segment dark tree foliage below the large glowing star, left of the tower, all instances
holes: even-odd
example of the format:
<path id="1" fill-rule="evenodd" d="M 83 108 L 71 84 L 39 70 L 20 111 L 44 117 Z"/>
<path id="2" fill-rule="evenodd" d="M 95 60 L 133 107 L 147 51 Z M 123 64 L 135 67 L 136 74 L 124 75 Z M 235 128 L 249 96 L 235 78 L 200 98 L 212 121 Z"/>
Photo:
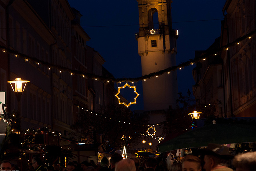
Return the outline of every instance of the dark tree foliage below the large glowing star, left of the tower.
<path id="1" fill-rule="evenodd" d="M 146 132 L 146 120 L 139 114 L 134 114 L 123 105 L 112 106 L 104 114 L 84 111 L 71 126 L 74 140 L 86 144 L 96 143 L 100 134 L 102 143 L 108 147 L 134 146 L 140 143 L 140 134 Z M 138 133 L 136 133 L 138 132 Z M 123 138 L 122 138 L 123 137 Z"/>

